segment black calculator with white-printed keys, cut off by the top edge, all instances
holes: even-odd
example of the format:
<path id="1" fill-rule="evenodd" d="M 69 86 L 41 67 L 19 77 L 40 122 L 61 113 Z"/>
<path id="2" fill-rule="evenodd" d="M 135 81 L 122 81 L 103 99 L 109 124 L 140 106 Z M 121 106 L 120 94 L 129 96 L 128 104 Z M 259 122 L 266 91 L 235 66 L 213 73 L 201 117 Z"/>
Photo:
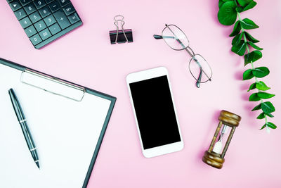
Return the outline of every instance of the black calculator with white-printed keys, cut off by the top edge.
<path id="1" fill-rule="evenodd" d="M 82 25 L 70 0 L 7 0 L 36 49 Z"/>

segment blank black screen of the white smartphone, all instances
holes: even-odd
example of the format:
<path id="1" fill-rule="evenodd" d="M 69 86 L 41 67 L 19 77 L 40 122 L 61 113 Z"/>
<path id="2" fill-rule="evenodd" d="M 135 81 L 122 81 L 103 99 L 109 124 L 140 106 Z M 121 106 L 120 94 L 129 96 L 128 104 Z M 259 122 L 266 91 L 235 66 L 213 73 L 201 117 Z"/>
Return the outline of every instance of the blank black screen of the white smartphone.
<path id="1" fill-rule="evenodd" d="M 166 75 L 129 84 L 143 148 L 180 142 Z"/>

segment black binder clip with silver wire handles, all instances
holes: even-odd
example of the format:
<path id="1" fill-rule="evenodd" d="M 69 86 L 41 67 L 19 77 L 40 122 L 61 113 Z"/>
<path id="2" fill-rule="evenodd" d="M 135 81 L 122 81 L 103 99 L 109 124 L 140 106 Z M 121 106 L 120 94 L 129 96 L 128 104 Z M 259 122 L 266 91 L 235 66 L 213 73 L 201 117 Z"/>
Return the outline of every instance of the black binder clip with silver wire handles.
<path id="1" fill-rule="evenodd" d="M 124 16 L 123 15 L 115 15 L 115 25 L 117 30 L 110 31 L 110 43 L 125 43 L 125 42 L 133 42 L 133 32 L 132 30 L 124 30 Z M 118 24 L 121 24 L 122 30 L 119 30 Z"/>

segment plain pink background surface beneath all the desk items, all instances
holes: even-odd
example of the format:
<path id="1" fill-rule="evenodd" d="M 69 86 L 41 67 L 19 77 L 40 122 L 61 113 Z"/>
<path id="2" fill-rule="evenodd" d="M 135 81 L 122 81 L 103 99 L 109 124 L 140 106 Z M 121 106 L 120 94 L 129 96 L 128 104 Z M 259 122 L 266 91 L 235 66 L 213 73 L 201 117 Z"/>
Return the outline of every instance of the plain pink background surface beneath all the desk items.
<path id="1" fill-rule="evenodd" d="M 232 27 L 218 23 L 218 0 L 72 0 L 84 25 L 41 50 L 33 48 L 2 0 L 0 56 L 117 97 L 88 187 L 281 187 L 281 3 L 257 2 L 242 18 L 260 25 L 249 32 L 264 48 L 263 58 L 255 66 L 270 68 L 263 81 L 272 87 L 268 92 L 276 94 L 270 99 L 276 117 L 270 121 L 279 127 L 270 134 L 259 130 L 264 123 L 256 120 L 260 112 L 250 111 L 258 104 L 247 101 L 247 89 L 254 80 L 241 81 L 246 68 L 242 58 L 230 51 Z M 125 28 L 133 30 L 133 43 L 110 45 L 108 31 L 115 29 L 113 17 L 117 14 L 124 15 Z M 187 68 L 188 54 L 153 39 L 153 34 L 161 34 L 164 23 L 181 27 L 192 49 L 209 61 L 214 73 L 211 82 L 197 89 Z M 145 158 L 125 77 L 157 66 L 169 70 L 185 148 Z M 201 158 L 222 109 L 241 115 L 242 121 L 223 169 L 217 170 Z"/>

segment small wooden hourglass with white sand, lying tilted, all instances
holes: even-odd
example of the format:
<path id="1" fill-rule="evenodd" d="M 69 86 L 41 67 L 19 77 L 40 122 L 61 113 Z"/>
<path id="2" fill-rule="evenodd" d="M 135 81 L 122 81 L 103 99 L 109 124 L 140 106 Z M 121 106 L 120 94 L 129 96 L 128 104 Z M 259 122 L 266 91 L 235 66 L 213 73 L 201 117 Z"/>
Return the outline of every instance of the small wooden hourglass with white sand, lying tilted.
<path id="1" fill-rule="evenodd" d="M 209 150 L 205 151 L 202 161 L 214 168 L 221 169 L 225 161 L 224 156 L 226 156 L 226 151 L 241 117 L 228 111 L 221 111 L 218 120 L 220 122 L 216 128 Z M 226 137 L 228 133 L 229 135 Z"/>

